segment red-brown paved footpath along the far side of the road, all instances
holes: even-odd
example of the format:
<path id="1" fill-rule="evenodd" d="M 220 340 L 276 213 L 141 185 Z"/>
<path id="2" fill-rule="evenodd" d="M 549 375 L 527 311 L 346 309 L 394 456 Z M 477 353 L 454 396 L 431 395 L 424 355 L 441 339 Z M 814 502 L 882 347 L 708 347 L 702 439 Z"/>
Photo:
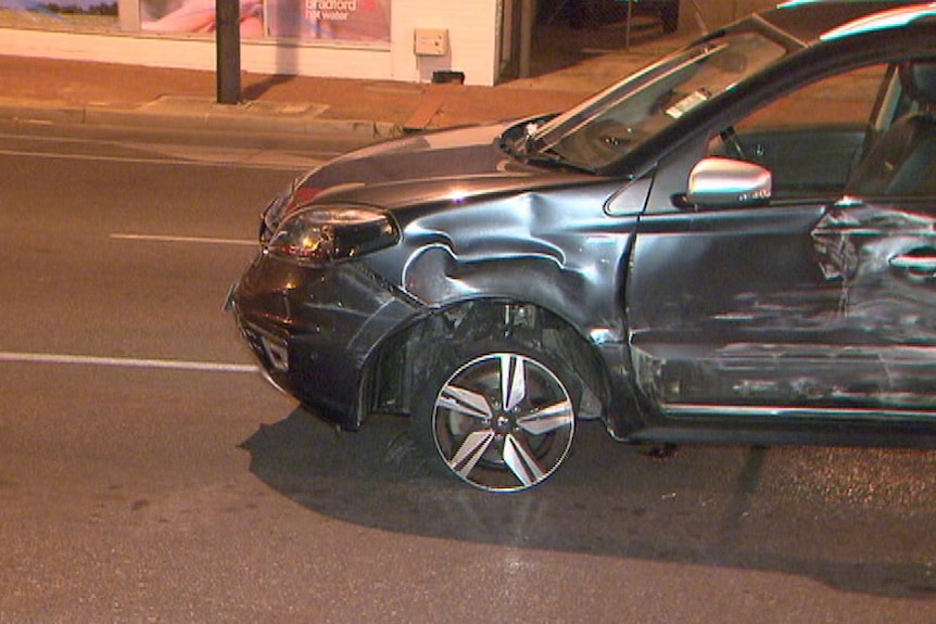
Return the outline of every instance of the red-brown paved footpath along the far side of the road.
<path id="1" fill-rule="evenodd" d="M 533 77 L 495 87 L 245 73 L 238 104 L 217 103 L 214 72 L 0 55 L 0 119 L 390 137 L 564 110 L 692 39 L 586 37 L 566 33 Z"/>

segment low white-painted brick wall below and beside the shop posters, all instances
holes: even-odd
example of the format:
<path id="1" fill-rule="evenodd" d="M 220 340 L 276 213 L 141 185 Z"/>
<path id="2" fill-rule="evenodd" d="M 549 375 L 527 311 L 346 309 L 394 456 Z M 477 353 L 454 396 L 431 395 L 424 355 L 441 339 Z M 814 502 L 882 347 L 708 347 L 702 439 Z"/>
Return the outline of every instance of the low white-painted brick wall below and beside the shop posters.
<path id="1" fill-rule="evenodd" d="M 498 0 L 393 0 L 391 48 L 241 41 L 241 67 L 295 74 L 425 82 L 433 72 L 463 72 L 466 84 L 497 78 Z M 416 28 L 447 30 L 442 56 L 417 56 Z M 151 33 L 76 33 L 0 28 L 0 54 L 214 71 L 214 38 Z"/>

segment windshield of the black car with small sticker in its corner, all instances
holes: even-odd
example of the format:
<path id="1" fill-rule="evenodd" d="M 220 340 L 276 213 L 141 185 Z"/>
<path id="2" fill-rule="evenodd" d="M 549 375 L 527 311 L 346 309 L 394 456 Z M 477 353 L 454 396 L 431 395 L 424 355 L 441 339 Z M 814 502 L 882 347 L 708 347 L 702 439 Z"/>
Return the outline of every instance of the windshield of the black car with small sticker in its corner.
<path id="1" fill-rule="evenodd" d="M 763 35 L 736 33 L 669 54 L 529 129 L 530 156 L 599 170 L 786 53 Z"/>

